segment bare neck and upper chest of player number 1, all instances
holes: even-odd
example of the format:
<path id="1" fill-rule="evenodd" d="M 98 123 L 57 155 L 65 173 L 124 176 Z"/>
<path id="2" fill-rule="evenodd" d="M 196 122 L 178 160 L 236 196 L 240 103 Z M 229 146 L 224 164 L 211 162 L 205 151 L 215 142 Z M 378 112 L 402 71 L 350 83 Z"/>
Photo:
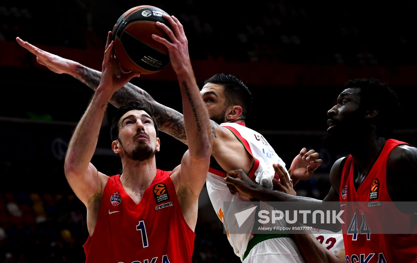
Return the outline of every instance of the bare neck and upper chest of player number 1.
<path id="1" fill-rule="evenodd" d="M 145 161 L 122 160 L 123 174 L 120 181 L 123 187 L 133 191 L 144 191 L 156 176 L 155 156 Z"/>

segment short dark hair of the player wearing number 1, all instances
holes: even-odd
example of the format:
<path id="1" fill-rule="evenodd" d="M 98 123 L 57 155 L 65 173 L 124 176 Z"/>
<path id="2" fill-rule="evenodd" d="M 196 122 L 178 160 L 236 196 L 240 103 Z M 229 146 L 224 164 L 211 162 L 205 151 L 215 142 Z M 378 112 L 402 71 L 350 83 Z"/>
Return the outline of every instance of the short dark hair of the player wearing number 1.
<path id="1" fill-rule="evenodd" d="M 153 126 L 155 127 L 155 130 L 156 130 L 156 137 L 158 137 L 158 124 L 156 123 L 155 117 L 153 117 L 151 109 L 148 107 L 148 105 L 142 102 L 131 100 L 129 102 L 126 102 L 124 105 L 122 105 L 113 115 L 113 120 L 111 121 L 111 129 L 110 129 L 111 140 L 119 139 L 119 120 L 123 116 L 123 114 L 125 114 L 126 112 L 130 110 L 143 110 L 144 112 L 148 113 L 149 116 L 151 116 L 152 118 Z"/>

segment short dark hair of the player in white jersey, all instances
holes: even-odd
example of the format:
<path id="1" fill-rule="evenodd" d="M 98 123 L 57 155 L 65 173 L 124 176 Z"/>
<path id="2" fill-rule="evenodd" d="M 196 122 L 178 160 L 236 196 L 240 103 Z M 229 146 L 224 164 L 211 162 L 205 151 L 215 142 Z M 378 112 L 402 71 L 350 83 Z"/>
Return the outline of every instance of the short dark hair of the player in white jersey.
<path id="1" fill-rule="evenodd" d="M 207 79 L 204 84 L 208 82 L 223 85 L 226 107 L 239 105 L 242 107 L 242 116 L 246 117 L 246 114 L 251 110 L 252 94 L 241 79 L 231 74 L 219 73 Z"/>

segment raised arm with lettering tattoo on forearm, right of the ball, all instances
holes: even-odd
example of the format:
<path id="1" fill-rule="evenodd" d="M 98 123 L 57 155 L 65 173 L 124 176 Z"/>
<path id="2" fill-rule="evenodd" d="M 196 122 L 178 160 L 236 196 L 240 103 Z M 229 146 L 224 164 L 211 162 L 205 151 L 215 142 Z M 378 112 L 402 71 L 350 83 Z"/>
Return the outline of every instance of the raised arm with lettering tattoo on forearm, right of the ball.
<path id="1" fill-rule="evenodd" d="M 206 181 L 211 156 L 211 129 L 208 112 L 194 78 L 188 55 L 188 41 L 183 26 L 175 17 L 163 15 L 170 23 L 172 31 L 166 25 L 156 22 L 171 41 L 152 35 L 155 41 L 164 44 L 180 84 L 184 113 L 184 128 L 187 134 L 188 151 L 181 165 L 171 172 L 176 187 L 178 201 L 183 216 L 191 229 L 197 222 L 198 195 Z"/>

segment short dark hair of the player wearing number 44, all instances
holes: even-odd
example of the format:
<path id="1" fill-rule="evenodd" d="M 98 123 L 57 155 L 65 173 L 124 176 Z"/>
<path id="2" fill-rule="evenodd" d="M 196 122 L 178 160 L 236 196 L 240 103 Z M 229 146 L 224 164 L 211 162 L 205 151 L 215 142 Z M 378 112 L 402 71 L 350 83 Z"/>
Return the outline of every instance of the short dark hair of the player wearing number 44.
<path id="1" fill-rule="evenodd" d="M 359 107 L 362 110 L 369 110 L 372 107 L 378 109 L 378 115 L 374 120 L 376 132 L 382 137 L 390 136 L 399 117 L 400 105 L 397 94 L 378 79 L 349 80 L 345 87 L 359 89 Z"/>

